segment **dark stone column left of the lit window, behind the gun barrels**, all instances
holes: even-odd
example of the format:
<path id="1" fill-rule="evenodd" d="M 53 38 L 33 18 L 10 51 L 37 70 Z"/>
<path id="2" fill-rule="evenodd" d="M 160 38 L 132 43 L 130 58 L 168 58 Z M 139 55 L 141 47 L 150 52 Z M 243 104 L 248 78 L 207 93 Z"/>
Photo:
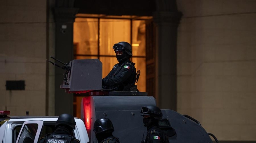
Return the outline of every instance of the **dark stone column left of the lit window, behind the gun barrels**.
<path id="1" fill-rule="evenodd" d="M 73 60 L 73 23 L 77 8 L 73 0 L 58 1 L 54 8 L 55 19 L 55 58 L 67 63 Z M 57 62 L 58 63 L 58 62 Z M 61 65 L 60 63 L 58 63 Z M 60 88 L 65 70 L 55 68 L 55 115 L 73 114 L 73 94 Z"/>

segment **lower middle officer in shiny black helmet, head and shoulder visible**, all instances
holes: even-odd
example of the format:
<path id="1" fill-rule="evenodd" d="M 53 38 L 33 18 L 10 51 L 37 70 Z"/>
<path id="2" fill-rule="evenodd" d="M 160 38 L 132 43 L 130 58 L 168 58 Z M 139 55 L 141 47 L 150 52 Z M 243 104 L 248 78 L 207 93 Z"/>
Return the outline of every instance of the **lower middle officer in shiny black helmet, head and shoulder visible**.
<path id="1" fill-rule="evenodd" d="M 114 127 L 109 118 L 100 118 L 94 122 L 93 131 L 99 143 L 120 143 L 112 135 Z"/>

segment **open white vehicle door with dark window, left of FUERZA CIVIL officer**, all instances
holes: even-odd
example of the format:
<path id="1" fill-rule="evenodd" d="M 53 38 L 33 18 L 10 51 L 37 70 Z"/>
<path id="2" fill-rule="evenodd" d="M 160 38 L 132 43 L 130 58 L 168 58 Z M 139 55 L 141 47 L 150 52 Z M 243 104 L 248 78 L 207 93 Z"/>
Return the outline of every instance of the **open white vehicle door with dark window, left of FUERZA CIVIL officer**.
<path id="1" fill-rule="evenodd" d="M 25 121 L 21 127 L 16 143 L 37 143 L 42 134 L 43 121 Z"/>

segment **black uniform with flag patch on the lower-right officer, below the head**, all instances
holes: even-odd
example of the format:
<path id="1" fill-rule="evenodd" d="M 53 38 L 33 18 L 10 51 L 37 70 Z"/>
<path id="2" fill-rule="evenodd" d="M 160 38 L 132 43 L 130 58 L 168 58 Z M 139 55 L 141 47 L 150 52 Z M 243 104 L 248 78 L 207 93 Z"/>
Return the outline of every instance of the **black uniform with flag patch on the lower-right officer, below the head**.
<path id="1" fill-rule="evenodd" d="M 158 126 L 153 126 L 147 131 L 144 143 L 169 143 L 169 140 Z"/>

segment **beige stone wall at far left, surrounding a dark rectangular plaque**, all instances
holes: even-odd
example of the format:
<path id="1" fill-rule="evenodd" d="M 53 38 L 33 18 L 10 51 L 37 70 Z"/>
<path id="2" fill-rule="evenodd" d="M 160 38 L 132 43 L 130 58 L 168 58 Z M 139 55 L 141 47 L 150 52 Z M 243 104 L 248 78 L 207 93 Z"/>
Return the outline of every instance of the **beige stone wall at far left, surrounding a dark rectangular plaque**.
<path id="1" fill-rule="evenodd" d="M 45 115 L 46 1 L 0 1 L 0 110 Z M 25 90 L 7 91 L 6 80 Z"/>

